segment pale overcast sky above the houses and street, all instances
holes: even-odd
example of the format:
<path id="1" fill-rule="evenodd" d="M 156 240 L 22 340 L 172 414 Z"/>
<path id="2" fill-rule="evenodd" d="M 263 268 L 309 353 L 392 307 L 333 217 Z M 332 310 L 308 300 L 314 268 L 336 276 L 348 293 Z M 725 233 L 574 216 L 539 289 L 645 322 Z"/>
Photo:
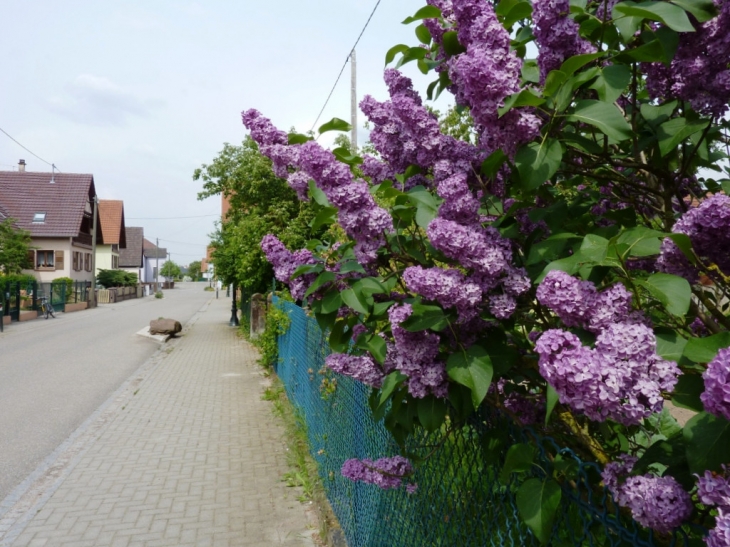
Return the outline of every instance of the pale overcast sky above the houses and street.
<path id="1" fill-rule="evenodd" d="M 242 110 L 310 129 L 376 2 L 2 0 L 0 127 L 61 172 L 92 173 L 101 199 L 124 200 L 127 226 L 187 264 L 220 214 L 197 201 L 194 169 L 243 140 Z M 401 21 L 423 5 L 381 1 L 357 47 L 359 99 L 387 98 L 385 53 L 417 44 Z M 422 93 L 433 79 L 404 72 Z M 348 65 L 317 125 L 349 119 L 349 79 Z M 50 171 L 0 134 L 0 169 L 20 158 Z"/>

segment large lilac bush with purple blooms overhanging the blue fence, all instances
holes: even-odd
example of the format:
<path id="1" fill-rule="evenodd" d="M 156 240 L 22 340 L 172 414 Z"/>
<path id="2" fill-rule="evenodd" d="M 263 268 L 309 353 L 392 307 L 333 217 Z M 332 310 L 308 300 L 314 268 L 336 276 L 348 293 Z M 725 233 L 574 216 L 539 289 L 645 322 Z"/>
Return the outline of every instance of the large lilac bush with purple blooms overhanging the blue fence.
<path id="1" fill-rule="evenodd" d="M 642 526 L 699 524 L 712 502 L 706 542 L 722 544 L 730 460 L 704 444 L 730 443 L 730 2 L 428 5 L 423 43 L 388 61 L 433 72 L 429 98 L 453 94 L 476 139 L 394 68 L 388 96 L 360 102 L 363 157 L 243 114 L 322 227 L 299 251 L 264 238 L 277 280 L 308 294 L 328 367 L 370 386 L 399 442 L 485 407 L 539 422 L 604 466 Z M 668 400 L 696 416 L 681 427 Z M 546 486 L 571 487 L 543 465 Z M 411 472 L 400 456 L 343 465 L 381 488 Z"/>

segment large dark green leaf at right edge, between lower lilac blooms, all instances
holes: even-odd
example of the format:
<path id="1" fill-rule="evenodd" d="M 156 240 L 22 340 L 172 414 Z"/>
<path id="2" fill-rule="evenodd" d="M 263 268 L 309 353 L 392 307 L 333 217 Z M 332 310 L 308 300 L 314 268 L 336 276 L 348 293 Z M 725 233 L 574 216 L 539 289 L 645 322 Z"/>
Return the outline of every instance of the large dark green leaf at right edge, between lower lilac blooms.
<path id="1" fill-rule="evenodd" d="M 730 422 L 707 412 L 690 418 L 684 426 L 690 471 L 720 471 L 730 455 Z"/>

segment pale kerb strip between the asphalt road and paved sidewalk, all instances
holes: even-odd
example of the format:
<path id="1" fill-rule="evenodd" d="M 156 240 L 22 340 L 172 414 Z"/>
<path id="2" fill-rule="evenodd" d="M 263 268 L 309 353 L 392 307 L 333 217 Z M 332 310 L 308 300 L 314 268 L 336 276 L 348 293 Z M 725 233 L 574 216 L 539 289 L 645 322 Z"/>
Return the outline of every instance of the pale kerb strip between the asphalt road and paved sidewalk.
<path id="1" fill-rule="evenodd" d="M 185 323 L 185 334 L 210 306 L 208 301 Z M 145 329 L 142 329 L 145 330 Z M 149 334 L 148 337 L 166 342 L 167 336 Z M 141 331 L 137 334 L 140 334 Z M 159 340 L 164 338 L 164 340 Z M 63 441 L 41 464 L 0 502 L 0 547 L 10 545 L 22 532 L 45 502 L 71 473 L 91 443 L 108 426 L 110 420 L 133 395 L 142 381 L 167 355 L 167 348 L 160 347 L 129 379 L 124 382 L 91 416 Z"/>

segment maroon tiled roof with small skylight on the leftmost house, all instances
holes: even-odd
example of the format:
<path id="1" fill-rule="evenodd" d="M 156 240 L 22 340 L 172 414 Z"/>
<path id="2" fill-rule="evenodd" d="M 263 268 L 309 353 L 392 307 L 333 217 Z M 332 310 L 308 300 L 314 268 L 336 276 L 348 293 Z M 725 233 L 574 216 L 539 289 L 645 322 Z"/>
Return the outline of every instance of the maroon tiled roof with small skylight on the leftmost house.
<path id="1" fill-rule="evenodd" d="M 34 237 L 78 236 L 96 194 L 94 176 L 56 173 L 53 180 L 51 173 L 0 171 L 0 203 Z M 43 222 L 33 222 L 37 213 L 45 213 Z"/>

